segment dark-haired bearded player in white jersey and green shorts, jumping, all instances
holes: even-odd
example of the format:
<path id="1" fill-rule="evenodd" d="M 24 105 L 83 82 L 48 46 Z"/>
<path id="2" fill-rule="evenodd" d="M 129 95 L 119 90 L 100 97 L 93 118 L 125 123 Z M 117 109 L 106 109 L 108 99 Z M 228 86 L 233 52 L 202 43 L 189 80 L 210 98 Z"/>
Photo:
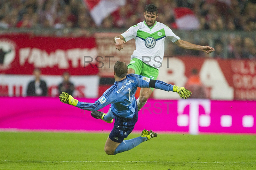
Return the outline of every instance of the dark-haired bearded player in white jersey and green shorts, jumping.
<path id="1" fill-rule="evenodd" d="M 144 10 L 145 21 L 130 27 L 123 34 L 114 38 L 116 49 L 123 49 L 123 44 L 135 39 L 136 50 L 133 51 L 131 62 L 128 65 L 128 74 L 135 73 L 156 80 L 158 69 L 164 58 L 164 39 L 171 37 L 173 43 L 184 49 L 200 50 L 207 54 L 214 51 L 212 47 L 201 46 L 181 40 L 166 25 L 156 22 L 158 9 L 155 4 L 148 4 Z M 141 88 L 137 99 L 138 110 L 147 102 L 153 88 Z"/>

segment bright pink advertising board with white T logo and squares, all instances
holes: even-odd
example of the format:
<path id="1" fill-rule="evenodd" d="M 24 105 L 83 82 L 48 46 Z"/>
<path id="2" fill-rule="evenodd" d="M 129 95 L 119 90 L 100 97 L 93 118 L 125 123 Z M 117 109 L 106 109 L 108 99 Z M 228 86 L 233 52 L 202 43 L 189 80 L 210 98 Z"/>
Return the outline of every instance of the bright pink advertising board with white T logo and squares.
<path id="1" fill-rule="evenodd" d="M 94 103 L 96 99 L 79 99 Z M 0 97 L 1 130 L 68 130 L 109 132 L 113 123 L 91 117 L 90 111 L 51 97 Z M 101 111 L 107 112 L 109 106 Z M 156 132 L 256 134 L 256 101 L 205 99 L 155 100 L 139 112 L 134 130 Z"/>

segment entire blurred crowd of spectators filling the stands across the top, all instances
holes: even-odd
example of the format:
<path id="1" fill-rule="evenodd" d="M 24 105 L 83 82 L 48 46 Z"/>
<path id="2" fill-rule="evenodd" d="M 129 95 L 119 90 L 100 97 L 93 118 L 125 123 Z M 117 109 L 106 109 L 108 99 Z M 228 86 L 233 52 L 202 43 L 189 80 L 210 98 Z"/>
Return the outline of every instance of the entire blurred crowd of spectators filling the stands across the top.
<path id="1" fill-rule="evenodd" d="M 106 17 L 100 27 L 91 18 L 84 0 L 1 0 L 0 28 L 73 28 L 72 34 L 89 36 L 89 29 L 127 29 L 143 21 L 144 7 L 149 3 L 159 8 L 157 21 L 174 32 L 176 7 L 191 9 L 199 20 L 199 30 L 256 31 L 256 0 L 126 0 L 126 4 Z M 197 40 L 195 37 L 190 42 L 209 45 L 203 38 Z M 212 57 L 256 58 L 255 43 L 255 34 L 245 37 L 228 35 L 224 40 L 223 37 L 215 38 L 211 44 L 215 48 Z M 174 51 L 176 55 L 187 54 L 186 50 Z M 190 51 L 189 55 L 202 54 Z"/>

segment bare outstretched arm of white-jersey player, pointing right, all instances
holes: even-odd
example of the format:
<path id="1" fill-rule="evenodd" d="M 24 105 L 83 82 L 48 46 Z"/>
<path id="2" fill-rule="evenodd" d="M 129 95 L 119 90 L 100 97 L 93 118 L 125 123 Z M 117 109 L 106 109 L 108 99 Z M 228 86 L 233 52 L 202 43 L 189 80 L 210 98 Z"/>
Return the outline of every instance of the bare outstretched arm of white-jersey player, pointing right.
<path id="1" fill-rule="evenodd" d="M 201 45 L 196 45 L 196 44 L 192 44 L 192 43 L 189 43 L 187 41 L 184 41 L 184 40 L 177 40 L 175 42 L 176 45 L 178 45 L 179 47 L 181 48 L 184 48 L 184 49 L 188 49 L 188 50 L 200 50 L 200 51 L 203 51 L 203 52 L 206 52 L 207 54 L 211 53 L 212 51 L 214 51 L 214 48 L 212 47 L 209 47 L 207 45 L 205 46 L 201 46 Z"/>

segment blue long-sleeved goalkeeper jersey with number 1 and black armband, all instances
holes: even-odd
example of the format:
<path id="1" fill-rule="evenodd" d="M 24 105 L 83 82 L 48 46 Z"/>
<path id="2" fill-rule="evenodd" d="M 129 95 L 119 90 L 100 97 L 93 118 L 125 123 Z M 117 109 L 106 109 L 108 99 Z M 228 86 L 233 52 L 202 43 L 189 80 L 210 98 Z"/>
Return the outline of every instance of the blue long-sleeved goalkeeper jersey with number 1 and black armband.
<path id="1" fill-rule="evenodd" d="M 165 91 L 173 91 L 173 85 L 171 84 L 159 80 L 150 80 L 147 77 L 137 74 L 128 74 L 123 80 L 116 81 L 94 103 L 78 102 L 76 107 L 89 111 L 97 111 L 110 104 L 111 111 L 115 116 L 132 118 L 136 107 L 134 95 L 137 87 L 154 87 Z"/>

